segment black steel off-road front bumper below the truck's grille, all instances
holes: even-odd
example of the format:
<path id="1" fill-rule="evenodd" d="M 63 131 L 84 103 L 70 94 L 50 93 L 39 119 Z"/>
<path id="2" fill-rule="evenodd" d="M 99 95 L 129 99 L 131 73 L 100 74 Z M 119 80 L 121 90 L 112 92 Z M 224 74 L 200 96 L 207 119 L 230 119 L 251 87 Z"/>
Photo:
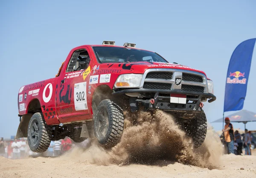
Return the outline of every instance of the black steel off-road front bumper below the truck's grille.
<path id="1" fill-rule="evenodd" d="M 128 93 L 138 93 L 142 97 L 130 97 L 130 106 L 131 111 L 134 112 L 138 110 L 138 103 L 142 103 L 147 109 L 162 109 L 162 110 L 169 110 L 182 113 L 183 115 L 187 115 L 188 111 L 191 113 L 198 113 L 201 112 L 201 99 L 207 98 L 209 99 L 208 102 L 211 103 L 216 100 L 216 96 L 210 93 L 201 93 L 201 92 L 188 92 L 182 90 L 165 90 L 165 89 L 124 89 L 121 91 L 113 92 L 112 95 L 123 95 Z M 152 98 L 145 98 L 146 93 L 153 93 L 154 97 Z M 160 95 L 159 95 L 160 94 Z M 179 103 L 170 103 L 168 100 L 170 96 L 161 96 L 161 94 L 183 94 L 187 96 L 195 96 L 192 98 L 187 98 L 187 100 L 192 101 L 192 103 L 186 104 L 179 104 Z M 154 102 L 152 102 L 154 99 Z M 185 117 L 185 116 L 184 116 Z"/>

